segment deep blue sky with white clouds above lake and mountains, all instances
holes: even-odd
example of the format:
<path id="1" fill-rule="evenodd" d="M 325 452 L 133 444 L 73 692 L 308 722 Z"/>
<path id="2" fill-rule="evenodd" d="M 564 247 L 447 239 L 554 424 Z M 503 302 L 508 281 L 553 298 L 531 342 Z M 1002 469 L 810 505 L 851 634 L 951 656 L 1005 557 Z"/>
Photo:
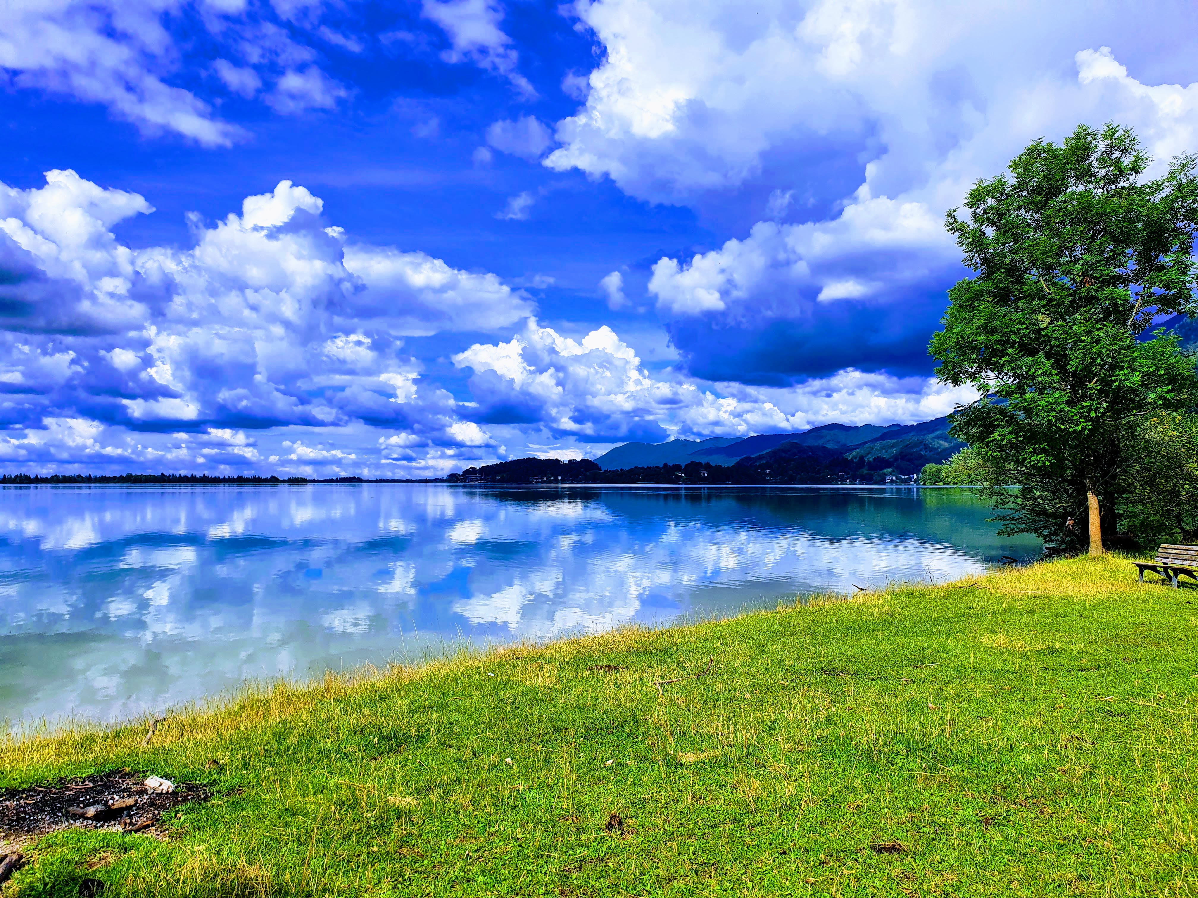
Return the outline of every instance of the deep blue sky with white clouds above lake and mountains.
<path id="1" fill-rule="evenodd" d="M 0 468 L 424 477 L 925 420 L 944 211 L 1198 150 L 1192 4 L 16 0 Z"/>

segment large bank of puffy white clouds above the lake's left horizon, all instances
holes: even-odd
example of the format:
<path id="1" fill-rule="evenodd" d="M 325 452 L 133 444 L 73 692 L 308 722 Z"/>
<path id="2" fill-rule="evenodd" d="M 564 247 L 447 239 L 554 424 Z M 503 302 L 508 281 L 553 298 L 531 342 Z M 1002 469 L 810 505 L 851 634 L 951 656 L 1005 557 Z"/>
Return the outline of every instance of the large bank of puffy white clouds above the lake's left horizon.
<path id="1" fill-rule="evenodd" d="M 216 223 L 193 218 L 189 249 L 131 249 L 113 235 L 152 211 L 73 171 L 29 190 L 0 184 L 0 261 L 20 275 L 0 284 L 0 423 L 30 429 L 7 437 L 5 457 L 61 460 L 56 441 L 80 459 L 244 462 L 259 457 L 252 447 L 196 448 L 180 433 L 356 423 L 446 451 L 494 445 L 422 380 L 403 338 L 509 327 L 534 311 L 522 293 L 419 251 L 351 243 L 290 181 Z M 90 421 L 96 445 L 66 439 L 84 432 L 74 425 L 47 430 L 52 420 Z M 276 456 L 361 457 L 292 443 Z"/>

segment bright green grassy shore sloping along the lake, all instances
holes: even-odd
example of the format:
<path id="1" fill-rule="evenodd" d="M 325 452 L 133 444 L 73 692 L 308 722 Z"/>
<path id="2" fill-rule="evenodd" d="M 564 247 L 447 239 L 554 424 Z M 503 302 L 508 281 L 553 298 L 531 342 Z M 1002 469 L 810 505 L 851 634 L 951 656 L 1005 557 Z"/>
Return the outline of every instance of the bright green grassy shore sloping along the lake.
<path id="1" fill-rule="evenodd" d="M 4 785 L 131 767 L 219 796 L 164 841 L 42 837 L 10 888 L 1198 893 L 1198 590 L 1118 558 L 980 582 L 278 686 L 146 748 L 13 740 Z"/>

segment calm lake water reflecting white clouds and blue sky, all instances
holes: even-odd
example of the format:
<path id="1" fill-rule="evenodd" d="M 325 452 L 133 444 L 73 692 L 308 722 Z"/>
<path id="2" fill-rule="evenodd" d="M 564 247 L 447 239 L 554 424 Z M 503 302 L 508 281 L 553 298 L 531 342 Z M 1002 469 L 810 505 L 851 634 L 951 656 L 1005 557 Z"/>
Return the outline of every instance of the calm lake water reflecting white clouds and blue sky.
<path id="1" fill-rule="evenodd" d="M 966 490 L 0 489 L 0 720 L 979 572 Z"/>

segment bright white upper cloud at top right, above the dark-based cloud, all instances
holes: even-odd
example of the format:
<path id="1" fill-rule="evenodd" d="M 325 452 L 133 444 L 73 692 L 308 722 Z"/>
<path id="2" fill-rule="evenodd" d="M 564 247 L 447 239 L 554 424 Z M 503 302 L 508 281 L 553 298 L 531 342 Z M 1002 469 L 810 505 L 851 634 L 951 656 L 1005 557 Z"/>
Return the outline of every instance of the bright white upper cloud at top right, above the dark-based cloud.
<path id="1" fill-rule="evenodd" d="M 1150 7 L 1144 16 L 1162 23 L 1186 10 Z M 1192 89 L 1142 85 L 1100 49 L 1130 38 L 1115 6 L 1084 17 L 1070 4 L 998 0 L 749 0 L 737 16 L 714 0 L 571 8 L 606 55 L 546 164 L 655 201 L 736 187 L 767 154 L 797 148 L 857 147 L 870 195 L 895 198 L 957 172 L 988 175 L 1028 140 L 1094 115 L 1163 125 L 1168 139 L 1150 135 L 1163 156 L 1176 152 L 1175 126 L 1192 123 Z M 1155 55 L 1158 37 L 1130 40 Z M 1181 44 L 1174 53 L 1185 57 Z M 1070 75 L 1075 57 L 1081 78 Z"/>

